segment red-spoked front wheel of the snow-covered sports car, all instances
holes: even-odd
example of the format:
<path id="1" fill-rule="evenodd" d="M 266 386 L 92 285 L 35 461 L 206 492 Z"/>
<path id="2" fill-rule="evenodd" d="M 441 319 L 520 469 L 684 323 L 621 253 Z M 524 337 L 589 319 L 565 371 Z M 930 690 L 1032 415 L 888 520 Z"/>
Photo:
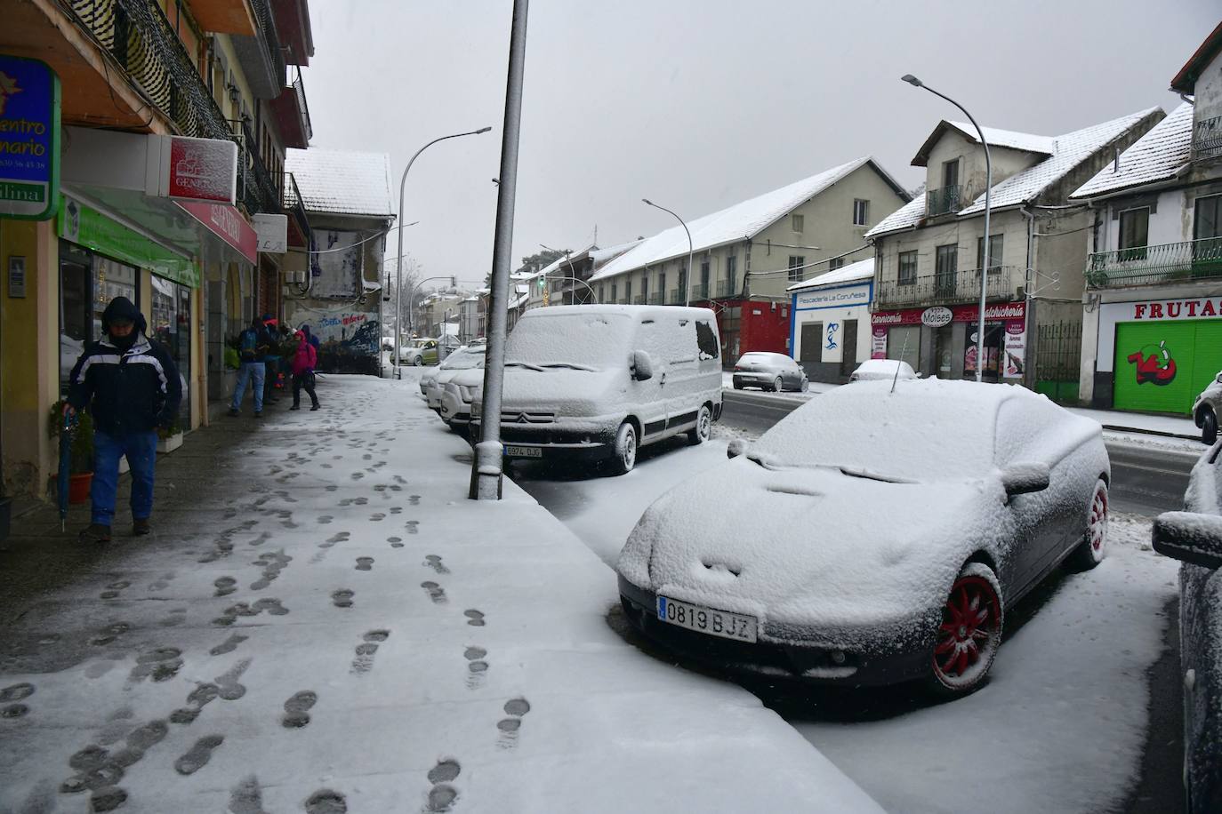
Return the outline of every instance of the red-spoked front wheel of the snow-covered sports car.
<path id="1" fill-rule="evenodd" d="M 934 647 L 934 674 L 938 682 L 954 691 L 975 686 L 1001 643 L 1001 624 L 995 583 L 969 565 L 942 605 L 942 624 Z"/>

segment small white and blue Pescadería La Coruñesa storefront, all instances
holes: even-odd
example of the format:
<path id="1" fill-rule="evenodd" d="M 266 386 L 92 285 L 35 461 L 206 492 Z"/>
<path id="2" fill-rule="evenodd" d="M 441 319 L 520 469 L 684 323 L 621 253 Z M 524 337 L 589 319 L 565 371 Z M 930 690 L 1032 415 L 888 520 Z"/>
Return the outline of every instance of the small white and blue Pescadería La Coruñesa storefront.
<path id="1" fill-rule="evenodd" d="M 792 292 L 789 328 L 793 358 L 813 382 L 847 382 L 870 358 L 870 305 L 874 301 L 874 258 L 851 278 L 831 272 Z M 832 282 L 820 281 L 832 278 Z"/>

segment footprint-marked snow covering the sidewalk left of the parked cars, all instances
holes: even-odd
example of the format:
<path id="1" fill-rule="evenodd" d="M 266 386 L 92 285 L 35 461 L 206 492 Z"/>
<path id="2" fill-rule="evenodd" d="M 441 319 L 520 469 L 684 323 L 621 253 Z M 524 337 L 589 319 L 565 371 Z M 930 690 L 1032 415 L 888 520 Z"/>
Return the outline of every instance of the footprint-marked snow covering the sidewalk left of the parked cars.
<path id="1" fill-rule="evenodd" d="M 152 538 L 6 622 L 0 810 L 881 810 L 623 642 L 612 571 L 508 480 L 467 500 L 415 389 L 327 376 L 320 412 L 222 419 Z"/>

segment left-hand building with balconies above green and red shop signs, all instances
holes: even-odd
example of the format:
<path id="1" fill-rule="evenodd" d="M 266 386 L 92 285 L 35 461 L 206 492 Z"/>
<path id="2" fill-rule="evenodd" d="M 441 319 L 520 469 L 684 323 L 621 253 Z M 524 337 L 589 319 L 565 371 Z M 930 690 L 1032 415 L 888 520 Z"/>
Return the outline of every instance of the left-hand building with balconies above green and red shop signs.
<path id="1" fill-rule="evenodd" d="M 24 182 L 0 182 L 6 494 L 46 493 L 51 406 L 116 295 L 180 367 L 180 428 L 208 421 L 211 351 L 252 315 L 279 312 L 277 236 L 297 220 L 284 154 L 310 135 L 290 68 L 313 50 L 306 0 L 5 4 L 5 140 L 40 99 L 54 107 L 26 167 L 50 170 L 45 206 L 23 211 Z"/>

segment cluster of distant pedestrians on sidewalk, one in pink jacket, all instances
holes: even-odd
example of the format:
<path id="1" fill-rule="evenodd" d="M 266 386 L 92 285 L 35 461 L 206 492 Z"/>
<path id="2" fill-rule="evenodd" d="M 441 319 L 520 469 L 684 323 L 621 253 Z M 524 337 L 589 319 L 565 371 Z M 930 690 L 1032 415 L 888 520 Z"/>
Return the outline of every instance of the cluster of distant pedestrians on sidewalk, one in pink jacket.
<path id="1" fill-rule="evenodd" d="M 242 397 L 251 387 L 254 400 L 254 417 L 263 417 L 264 402 L 275 404 L 275 383 L 280 366 L 288 359 L 288 372 L 293 384 L 293 405 L 290 410 L 301 409 L 302 389 L 309 395 L 310 410 L 318 410 L 318 395 L 314 393 L 314 367 L 318 366 L 318 337 L 303 325 L 292 338 L 277 336 L 276 321 L 270 314 L 255 317 L 251 327 L 238 336 L 237 387 L 230 404 L 231 416 L 242 415 Z"/>

